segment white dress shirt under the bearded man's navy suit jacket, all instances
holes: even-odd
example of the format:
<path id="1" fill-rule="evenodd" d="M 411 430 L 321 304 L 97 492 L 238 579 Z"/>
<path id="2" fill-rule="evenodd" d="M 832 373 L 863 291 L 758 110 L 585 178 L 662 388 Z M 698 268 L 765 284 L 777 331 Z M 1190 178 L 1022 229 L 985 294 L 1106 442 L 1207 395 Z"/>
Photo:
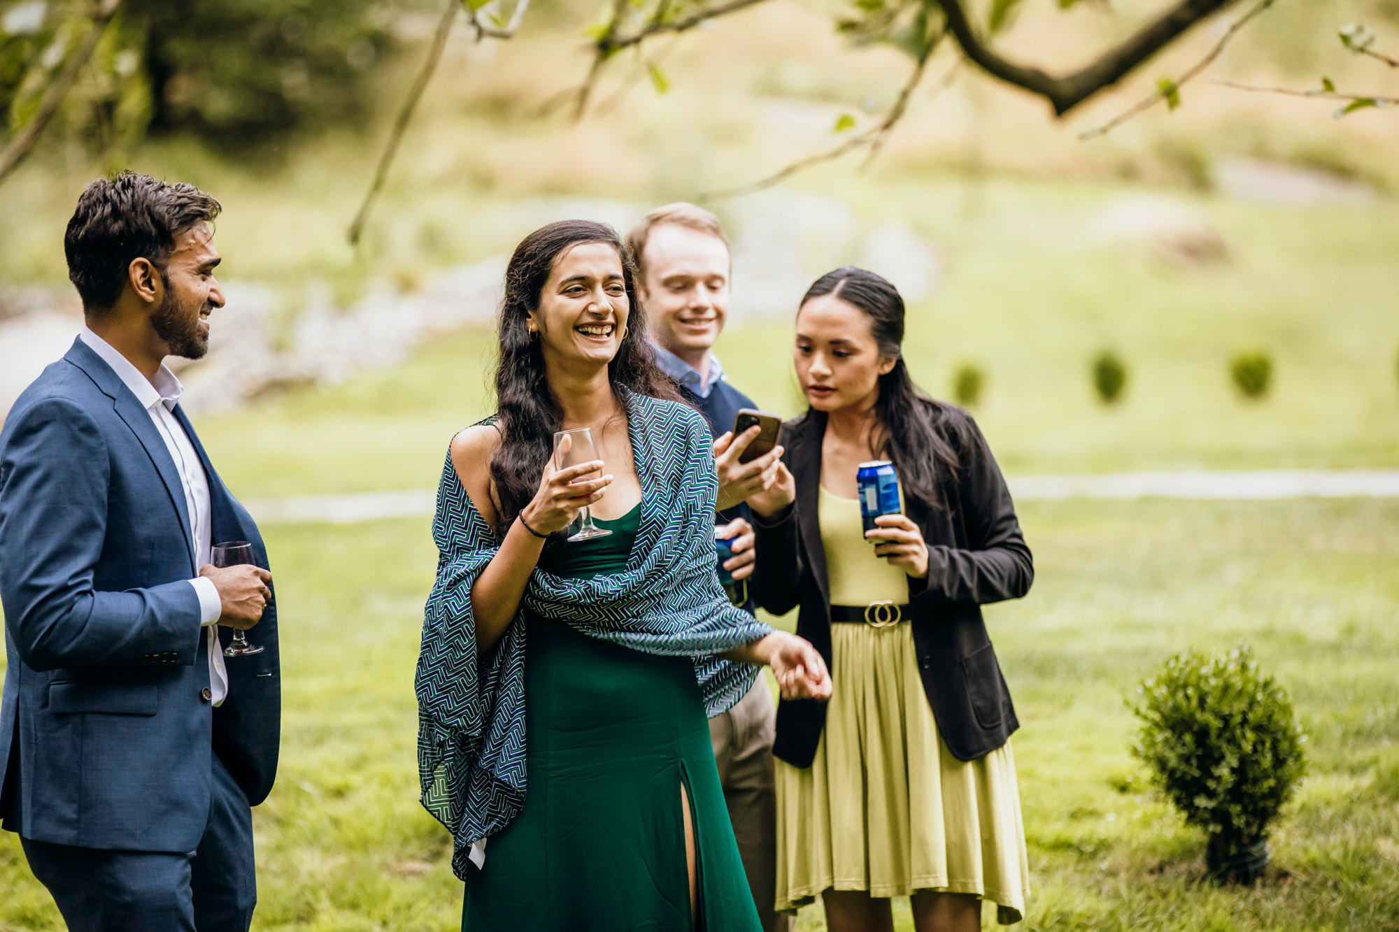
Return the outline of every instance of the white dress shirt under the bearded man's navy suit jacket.
<path id="1" fill-rule="evenodd" d="M 194 550 L 194 567 L 203 567 L 210 561 L 213 549 L 213 528 L 210 523 L 208 477 L 204 474 L 204 465 L 199 462 L 194 445 L 189 442 L 189 435 L 180 427 L 179 420 L 172 413 L 179 404 L 185 386 L 179 383 L 175 374 L 161 365 L 155 378 L 147 381 L 132 361 L 118 353 L 111 343 L 83 327 L 81 340 L 112 367 L 122 383 L 136 396 L 137 403 L 145 409 L 155 424 L 155 431 L 165 441 L 165 449 L 175 460 L 175 472 L 179 473 L 180 486 L 185 487 L 185 507 L 189 511 L 189 535 Z M 208 647 L 208 690 L 213 693 L 214 705 L 221 705 L 228 697 L 228 670 L 224 666 L 224 652 L 218 644 L 217 621 L 222 614 L 222 600 L 214 582 L 206 577 L 196 577 L 189 581 L 199 595 L 200 624 L 207 630 L 206 644 Z"/>

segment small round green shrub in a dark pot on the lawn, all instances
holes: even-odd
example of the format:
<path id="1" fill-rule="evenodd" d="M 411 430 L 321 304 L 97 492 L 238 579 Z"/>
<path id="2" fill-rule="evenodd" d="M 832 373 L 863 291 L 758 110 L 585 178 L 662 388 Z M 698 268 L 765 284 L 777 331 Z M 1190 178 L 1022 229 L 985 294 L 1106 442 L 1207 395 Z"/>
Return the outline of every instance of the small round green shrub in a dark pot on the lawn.
<path id="1" fill-rule="evenodd" d="M 1137 689 L 1133 711 L 1142 732 L 1132 753 L 1185 821 L 1209 835 L 1212 870 L 1251 880 L 1233 865 L 1260 849 L 1277 812 L 1305 770 L 1287 693 L 1259 673 L 1252 651 L 1185 652 Z"/>

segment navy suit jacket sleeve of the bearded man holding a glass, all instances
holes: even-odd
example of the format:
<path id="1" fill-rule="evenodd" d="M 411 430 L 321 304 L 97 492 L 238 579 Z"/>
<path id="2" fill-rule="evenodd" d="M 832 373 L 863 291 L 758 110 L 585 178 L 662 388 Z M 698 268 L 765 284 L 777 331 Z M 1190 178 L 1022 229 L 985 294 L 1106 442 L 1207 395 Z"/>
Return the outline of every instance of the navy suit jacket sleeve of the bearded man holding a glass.
<path id="1" fill-rule="evenodd" d="M 157 654 L 194 663 L 200 606 L 189 581 L 94 589 L 109 479 L 97 423 L 63 399 L 20 414 L 0 451 L 0 598 L 31 669 L 141 663 Z"/>

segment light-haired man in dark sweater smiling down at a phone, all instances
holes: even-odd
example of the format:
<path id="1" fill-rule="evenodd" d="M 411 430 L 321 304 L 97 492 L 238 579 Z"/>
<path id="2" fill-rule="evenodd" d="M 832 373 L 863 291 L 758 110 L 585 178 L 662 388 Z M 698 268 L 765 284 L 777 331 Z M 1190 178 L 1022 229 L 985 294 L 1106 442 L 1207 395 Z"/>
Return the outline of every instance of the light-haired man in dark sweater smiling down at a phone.
<path id="1" fill-rule="evenodd" d="M 713 452 L 719 473 L 719 522 L 727 525 L 726 536 L 737 536 L 733 542 L 736 556 L 725 565 L 734 579 L 761 585 L 761 579 L 753 579 L 754 535 L 744 502 L 768 488 L 786 467 L 779 459 L 781 448 L 751 463 L 739 462 L 739 455 L 757 437 L 757 427 L 732 435 L 739 409 L 757 404 L 729 385 L 713 354 L 713 343 L 729 318 L 729 241 L 712 213 L 677 203 L 646 214 L 627 234 L 627 246 L 637 260 L 639 297 L 651 319 L 656 361 L 680 383 L 686 400 L 704 414 L 711 434 L 718 438 Z M 751 600 L 744 607 L 753 612 Z M 792 928 L 789 918 L 772 910 L 776 898 L 775 735 L 776 707 L 761 677 L 737 705 L 709 719 L 723 799 L 765 932 Z"/>

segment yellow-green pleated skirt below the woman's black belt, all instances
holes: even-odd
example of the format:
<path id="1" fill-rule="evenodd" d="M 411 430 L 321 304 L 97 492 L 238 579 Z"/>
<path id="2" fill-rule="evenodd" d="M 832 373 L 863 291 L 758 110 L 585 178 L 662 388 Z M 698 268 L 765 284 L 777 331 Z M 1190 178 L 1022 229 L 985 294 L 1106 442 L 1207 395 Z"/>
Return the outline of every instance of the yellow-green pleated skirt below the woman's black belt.
<path id="1" fill-rule="evenodd" d="M 937 733 L 908 624 L 832 624 L 834 694 L 809 768 L 778 761 L 778 910 L 824 890 L 970 893 L 1024 917 L 1010 744 L 960 761 Z"/>

